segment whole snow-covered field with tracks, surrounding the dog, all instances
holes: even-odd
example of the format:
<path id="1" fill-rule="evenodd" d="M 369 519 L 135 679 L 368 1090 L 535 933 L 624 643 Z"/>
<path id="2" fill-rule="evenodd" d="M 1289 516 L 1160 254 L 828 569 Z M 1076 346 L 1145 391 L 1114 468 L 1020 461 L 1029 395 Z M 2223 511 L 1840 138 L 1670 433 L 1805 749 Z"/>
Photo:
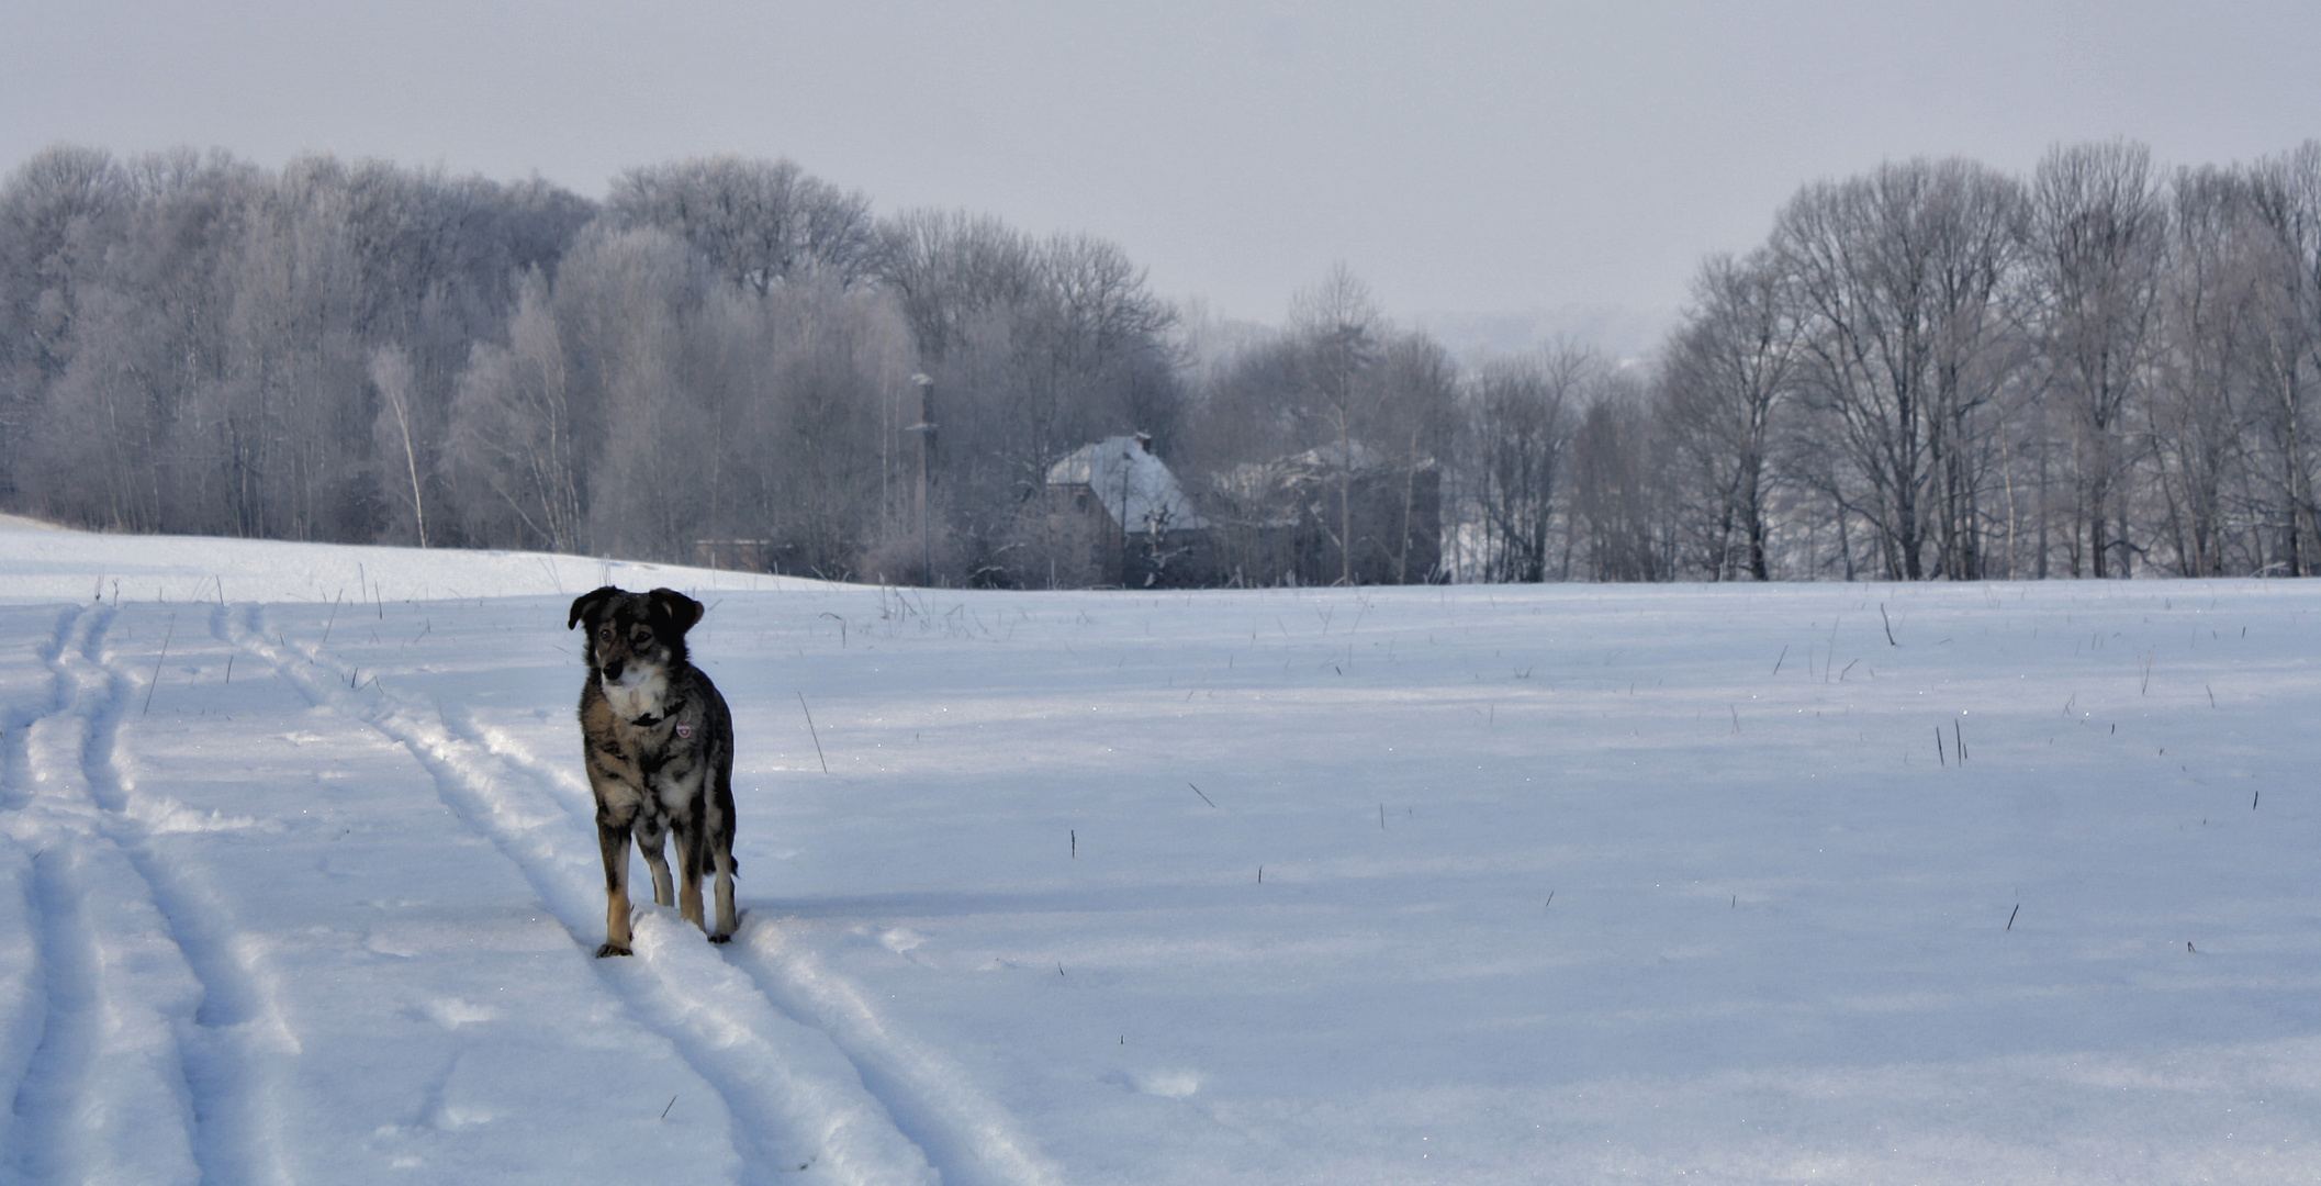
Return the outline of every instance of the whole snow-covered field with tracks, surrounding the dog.
<path id="1" fill-rule="evenodd" d="M 603 580 L 726 949 L 590 959 Z M 0 1181 L 2314 1181 L 2316 610 L 0 531 Z"/>

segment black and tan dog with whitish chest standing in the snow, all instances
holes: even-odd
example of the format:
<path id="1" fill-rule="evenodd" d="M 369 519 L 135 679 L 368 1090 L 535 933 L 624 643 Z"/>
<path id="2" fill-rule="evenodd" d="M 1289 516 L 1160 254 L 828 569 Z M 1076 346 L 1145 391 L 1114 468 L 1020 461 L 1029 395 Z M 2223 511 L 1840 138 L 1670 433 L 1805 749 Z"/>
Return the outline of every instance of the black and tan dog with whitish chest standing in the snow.
<path id="1" fill-rule="evenodd" d="M 564 629 L 585 624 L 580 657 L 580 754 L 596 794 L 603 849 L 603 947 L 629 954 L 629 836 L 652 868 L 655 905 L 733 938 L 733 713 L 717 685 L 685 652 L 701 603 L 675 590 L 627 592 L 610 585 L 573 599 Z M 671 894 L 661 836 L 678 836 Z M 703 866 L 717 875 L 717 926 L 701 919 Z M 671 898 L 675 898 L 671 903 Z"/>

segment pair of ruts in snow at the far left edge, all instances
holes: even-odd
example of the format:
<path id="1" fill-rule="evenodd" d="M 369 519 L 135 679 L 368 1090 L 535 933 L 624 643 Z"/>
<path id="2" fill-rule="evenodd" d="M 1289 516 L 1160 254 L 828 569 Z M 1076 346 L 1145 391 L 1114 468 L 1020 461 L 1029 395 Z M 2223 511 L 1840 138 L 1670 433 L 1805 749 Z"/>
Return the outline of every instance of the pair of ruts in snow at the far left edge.
<path id="1" fill-rule="evenodd" d="M 132 680 L 104 664 L 118 610 L 70 615 L 42 659 L 56 699 L 23 729 L 28 901 L 46 989 L 16 1086 L 26 1181 L 285 1181 L 253 1042 L 285 1030 L 200 877 L 132 815 L 118 733 Z M 272 1021 L 272 1026 L 260 1026 Z"/>

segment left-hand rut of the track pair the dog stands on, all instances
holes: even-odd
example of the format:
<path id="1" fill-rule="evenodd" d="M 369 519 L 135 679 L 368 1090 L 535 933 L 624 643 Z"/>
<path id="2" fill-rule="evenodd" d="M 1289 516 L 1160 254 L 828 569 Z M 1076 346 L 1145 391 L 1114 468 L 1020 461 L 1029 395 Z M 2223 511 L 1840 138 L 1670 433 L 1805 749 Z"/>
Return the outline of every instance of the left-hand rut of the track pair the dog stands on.
<path id="1" fill-rule="evenodd" d="M 422 696 L 350 675 L 320 648 L 269 634 L 260 608 L 216 615 L 214 634 L 265 659 L 318 708 L 369 724 L 434 778 L 443 805 L 485 836 L 532 884 L 573 942 L 596 947 L 603 861 L 594 819 L 576 829 L 559 796 L 487 745 L 455 731 Z M 513 905 L 511 905 L 513 907 Z M 801 1170 L 849 1184 L 933 1184 L 861 1072 L 824 1035 L 773 1007 L 671 910 L 641 910 L 636 956 L 592 961 L 629 1010 L 715 1089 L 731 1116 L 745 1181 L 796 1181 Z"/>

